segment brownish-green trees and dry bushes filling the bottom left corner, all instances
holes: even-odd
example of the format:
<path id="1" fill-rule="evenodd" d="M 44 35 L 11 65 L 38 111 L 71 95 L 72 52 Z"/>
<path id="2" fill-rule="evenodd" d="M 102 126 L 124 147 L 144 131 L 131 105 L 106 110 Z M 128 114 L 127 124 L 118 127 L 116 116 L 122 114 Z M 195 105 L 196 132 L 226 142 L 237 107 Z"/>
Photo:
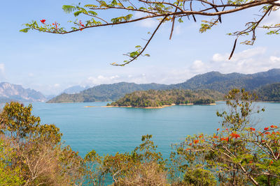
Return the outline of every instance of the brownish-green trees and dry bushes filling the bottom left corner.
<path id="1" fill-rule="evenodd" d="M 73 185 L 83 174 L 78 153 L 61 144 L 55 125 L 41 125 L 31 104 L 7 103 L 1 112 L 0 185 Z M 6 175 L 6 176 L 5 176 Z M 9 176 L 8 176 L 9 175 Z M 11 182 L 10 179 L 13 179 Z"/>

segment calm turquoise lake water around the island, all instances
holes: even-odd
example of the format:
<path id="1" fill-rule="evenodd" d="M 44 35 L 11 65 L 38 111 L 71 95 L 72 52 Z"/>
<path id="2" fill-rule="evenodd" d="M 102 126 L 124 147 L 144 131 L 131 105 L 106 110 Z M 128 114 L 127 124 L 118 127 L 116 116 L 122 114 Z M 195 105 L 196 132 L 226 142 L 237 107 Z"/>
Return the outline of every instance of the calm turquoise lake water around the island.
<path id="1" fill-rule="evenodd" d="M 84 156 L 94 149 L 99 155 L 130 152 L 141 144 L 141 136 L 153 134 L 153 140 L 165 157 L 171 145 L 188 134 L 208 133 L 221 127 L 216 111 L 225 109 L 224 102 L 216 105 L 188 105 L 165 109 L 108 108 L 107 102 L 33 103 L 33 114 L 41 123 L 53 123 L 63 133 L 63 140 Z M 280 123 L 280 103 L 258 102 L 266 111 L 259 114 L 257 127 Z M 95 106 L 95 107 L 85 107 Z M 262 119 L 261 119 L 262 118 Z"/>

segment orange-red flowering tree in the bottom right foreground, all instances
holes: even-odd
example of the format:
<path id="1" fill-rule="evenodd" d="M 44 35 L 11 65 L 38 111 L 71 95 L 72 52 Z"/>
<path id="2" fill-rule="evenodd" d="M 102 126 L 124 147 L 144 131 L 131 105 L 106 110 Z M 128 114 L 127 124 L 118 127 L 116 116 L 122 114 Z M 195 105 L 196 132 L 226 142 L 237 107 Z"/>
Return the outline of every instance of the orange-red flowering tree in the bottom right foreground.
<path id="1" fill-rule="evenodd" d="M 173 164 L 183 173 L 186 183 L 218 180 L 229 185 L 279 185 L 280 132 L 276 125 L 257 130 L 248 118 L 253 113 L 253 95 L 234 89 L 227 96 L 230 112 L 223 117 L 223 127 L 213 135 L 188 136 L 172 153 Z M 258 109 L 264 111 L 263 109 Z M 174 171 L 175 172 L 175 171 Z M 203 179 L 204 178 L 204 179 Z M 214 182 L 209 182 L 214 183 Z"/>

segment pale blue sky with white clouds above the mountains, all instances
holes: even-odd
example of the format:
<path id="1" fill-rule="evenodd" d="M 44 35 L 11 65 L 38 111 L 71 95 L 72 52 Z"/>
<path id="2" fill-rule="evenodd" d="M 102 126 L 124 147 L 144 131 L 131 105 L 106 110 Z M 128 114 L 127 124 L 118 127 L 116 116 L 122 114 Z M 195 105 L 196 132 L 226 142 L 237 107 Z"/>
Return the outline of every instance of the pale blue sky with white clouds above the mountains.
<path id="1" fill-rule="evenodd" d="M 92 1 L 1 2 L 0 82 L 20 84 L 52 95 L 76 85 L 116 82 L 177 84 L 210 71 L 251 74 L 280 68 L 280 38 L 268 36 L 262 29 L 257 31 L 255 45 L 238 44 L 233 58 L 228 60 L 235 38 L 227 33 L 244 28 L 244 24 L 256 16 L 253 14 L 258 13 L 255 9 L 225 15 L 222 24 L 206 33 L 199 33 L 203 18 L 197 17 L 196 23 L 186 19 L 182 24 L 176 22 L 172 40 L 169 40 L 171 24 L 163 24 L 146 50 L 151 57 L 140 57 L 124 67 L 110 63 L 126 60 L 123 54 L 132 51 L 136 45 L 144 45 L 148 31 L 155 29 L 157 20 L 85 29 L 63 36 L 20 32 L 25 28 L 22 24 L 31 20 L 45 19 L 46 22 L 69 25 L 68 21 L 76 18 L 64 13 L 62 6 L 78 2 Z M 104 13 L 105 17 L 114 15 L 117 13 Z M 279 20 L 280 10 L 271 13 L 264 24 Z"/>

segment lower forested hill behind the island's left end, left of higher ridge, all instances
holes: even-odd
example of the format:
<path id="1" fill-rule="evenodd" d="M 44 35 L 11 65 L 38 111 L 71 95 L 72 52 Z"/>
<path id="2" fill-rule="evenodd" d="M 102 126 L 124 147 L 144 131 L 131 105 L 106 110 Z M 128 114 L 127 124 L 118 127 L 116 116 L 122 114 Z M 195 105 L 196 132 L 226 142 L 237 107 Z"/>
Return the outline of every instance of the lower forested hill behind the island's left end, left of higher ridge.
<path id="1" fill-rule="evenodd" d="M 48 102 L 95 102 L 95 101 L 111 101 L 118 100 L 126 93 L 134 91 L 146 91 L 150 89 L 165 89 L 164 84 L 134 84 L 120 82 L 117 84 L 102 84 L 88 88 L 85 91 L 75 94 L 62 93 Z"/>

